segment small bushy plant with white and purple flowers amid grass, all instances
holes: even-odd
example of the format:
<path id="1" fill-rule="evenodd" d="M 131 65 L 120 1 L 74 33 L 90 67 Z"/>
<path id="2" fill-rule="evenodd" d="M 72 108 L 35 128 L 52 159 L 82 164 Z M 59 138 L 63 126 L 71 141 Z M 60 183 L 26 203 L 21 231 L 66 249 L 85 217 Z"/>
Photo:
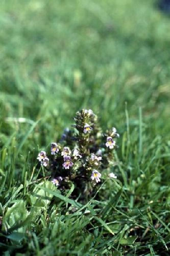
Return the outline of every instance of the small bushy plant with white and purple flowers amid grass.
<path id="1" fill-rule="evenodd" d="M 79 196 L 90 194 L 114 165 L 119 134 L 115 127 L 103 132 L 92 110 L 82 109 L 74 120 L 73 129 L 64 131 L 60 143 L 51 143 L 51 156 L 41 151 L 37 159 L 54 185 L 67 189 L 74 183 Z M 117 178 L 113 173 L 108 177 Z"/>

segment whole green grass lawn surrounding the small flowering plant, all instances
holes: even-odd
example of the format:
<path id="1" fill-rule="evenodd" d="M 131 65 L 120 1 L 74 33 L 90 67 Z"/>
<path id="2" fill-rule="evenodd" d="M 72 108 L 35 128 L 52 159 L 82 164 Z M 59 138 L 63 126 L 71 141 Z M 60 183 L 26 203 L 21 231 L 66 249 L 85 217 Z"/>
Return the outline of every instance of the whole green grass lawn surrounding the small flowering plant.
<path id="1" fill-rule="evenodd" d="M 170 19 L 155 3 L 1 1 L 4 255 L 169 255 Z M 120 133 L 118 183 L 85 205 L 36 160 L 81 108 Z"/>

